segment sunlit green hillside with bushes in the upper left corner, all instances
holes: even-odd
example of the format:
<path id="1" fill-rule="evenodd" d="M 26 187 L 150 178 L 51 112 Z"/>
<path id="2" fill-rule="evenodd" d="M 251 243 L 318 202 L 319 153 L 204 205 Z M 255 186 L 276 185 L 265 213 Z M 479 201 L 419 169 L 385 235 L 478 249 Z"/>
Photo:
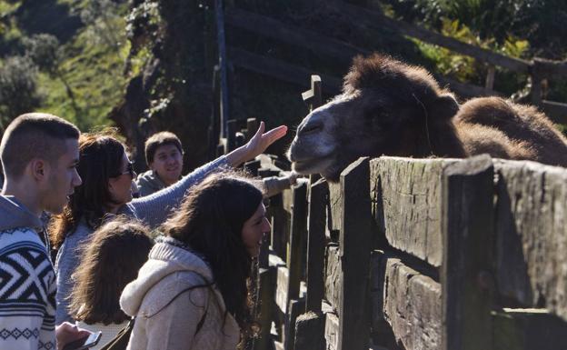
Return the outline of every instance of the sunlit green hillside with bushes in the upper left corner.
<path id="1" fill-rule="evenodd" d="M 47 5 L 52 5 L 49 11 Z M 112 124 L 106 115 L 122 98 L 125 86 L 126 8 L 124 2 L 111 0 L 0 1 L 0 57 L 22 55 L 29 70 L 21 79 L 35 89 L 35 95 L 22 98 L 25 107 L 17 110 L 61 115 L 82 130 Z M 58 15 L 49 16 L 54 11 Z M 77 19 L 83 25 L 78 30 Z M 37 28 L 46 33 L 30 34 Z M 5 115 L 7 106 L 3 108 Z"/>

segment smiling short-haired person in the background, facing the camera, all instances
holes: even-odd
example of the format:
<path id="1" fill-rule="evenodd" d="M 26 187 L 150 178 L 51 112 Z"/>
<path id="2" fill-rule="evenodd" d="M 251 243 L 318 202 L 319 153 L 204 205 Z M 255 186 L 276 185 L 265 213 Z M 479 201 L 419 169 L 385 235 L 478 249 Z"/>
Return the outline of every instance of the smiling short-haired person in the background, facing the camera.
<path id="1" fill-rule="evenodd" d="M 140 196 L 151 195 L 181 178 L 184 152 L 174 133 L 162 131 L 150 136 L 145 141 L 144 155 L 149 170 L 136 178 Z"/>

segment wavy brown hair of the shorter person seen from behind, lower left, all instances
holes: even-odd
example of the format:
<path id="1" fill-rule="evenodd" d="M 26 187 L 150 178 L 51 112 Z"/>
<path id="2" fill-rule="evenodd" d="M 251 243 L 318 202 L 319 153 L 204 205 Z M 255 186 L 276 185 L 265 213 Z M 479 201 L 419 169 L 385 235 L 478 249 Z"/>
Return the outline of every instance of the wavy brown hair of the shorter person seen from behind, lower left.
<path id="1" fill-rule="evenodd" d="M 86 324 L 120 324 L 129 319 L 120 309 L 124 286 L 134 281 L 154 242 L 144 225 L 117 216 L 94 231 L 82 247 L 72 278 L 69 314 Z"/>

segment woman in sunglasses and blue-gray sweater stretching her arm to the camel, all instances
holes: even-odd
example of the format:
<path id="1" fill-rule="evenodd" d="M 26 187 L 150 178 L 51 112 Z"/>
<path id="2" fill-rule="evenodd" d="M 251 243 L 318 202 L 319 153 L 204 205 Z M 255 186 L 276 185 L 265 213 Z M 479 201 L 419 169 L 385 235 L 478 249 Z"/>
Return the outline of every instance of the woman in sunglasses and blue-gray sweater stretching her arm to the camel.
<path id="1" fill-rule="evenodd" d="M 134 200 L 132 182 L 135 173 L 124 145 L 111 134 L 81 135 L 77 171 L 83 184 L 75 187 L 75 193 L 70 196 L 63 214 L 55 217 L 49 230 L 55 249 L 59 249 L 55 260 L 56 325 L 72 321 L 67 309 L 68 297 L 73 289 L 71 275 L 81 257 L 80 246 L 89 242 L 105 216 L 133 216 L 150 228 L 163 224 L 173 209 L 179 206 L 189 187 L 200 182 L 214 169 L 235 167 L 253 159 L 287 131 L 287 127 L 282 125 L 264 133 L 264 127 L 263 122 L 246 145 L 195 169 L 174 185 Z"/>

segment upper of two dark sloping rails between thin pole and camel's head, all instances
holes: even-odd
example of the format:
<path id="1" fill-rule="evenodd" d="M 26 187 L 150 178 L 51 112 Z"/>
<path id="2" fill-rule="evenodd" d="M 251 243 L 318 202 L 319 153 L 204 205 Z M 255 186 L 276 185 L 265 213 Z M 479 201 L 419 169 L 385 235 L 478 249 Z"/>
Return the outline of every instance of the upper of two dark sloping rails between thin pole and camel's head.
<path id="1" fill-rule="evenodd" d="M 318 55 L 328 55 L 346 64 L 350 64 L 355 55 L 369 53 L 367 50 L 298 28 L 296 25 L 287 25 L 276 19 L 237 8 L 227 9 L 224 21 L 228 25 L 243 28 L 256 35 L 300 46 Z"/>

